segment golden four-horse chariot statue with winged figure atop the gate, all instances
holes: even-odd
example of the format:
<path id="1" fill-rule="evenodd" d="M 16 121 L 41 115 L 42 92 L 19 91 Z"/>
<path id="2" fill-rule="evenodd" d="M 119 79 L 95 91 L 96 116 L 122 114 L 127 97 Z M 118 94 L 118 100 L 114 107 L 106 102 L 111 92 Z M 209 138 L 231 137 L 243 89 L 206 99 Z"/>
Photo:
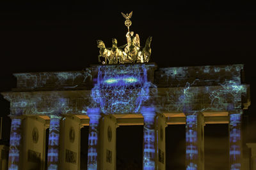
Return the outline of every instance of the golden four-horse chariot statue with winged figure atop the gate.
<path id="1" fill-rule="evenodd" d="M 99 62 L 102 64 L 124 64 L 124 63 L 134 63 L 134 62 L 148 62 L 151 55 L 151 41 L 152 37 L 148 37 L 145 46 L 142 48 L 140 46 L 140 37 L 138 34 L 134 36 L 133 31 L 129 31 L 131 27 L 131 13 L 125 15 L 125 26 L 127 26 L 128 32 L 126 34 L 127 44 L 123 46 L 117 46 L 117 40 L 112 39 L 112 48 L 106 48 L 102 40 L 97 40 L 97 46 L 100 48 L 100 54 L 98 56 Z M 123 50 L 124 49 L 124 50 Z M 104 60 L 100 60 L 101 57 Z"/>

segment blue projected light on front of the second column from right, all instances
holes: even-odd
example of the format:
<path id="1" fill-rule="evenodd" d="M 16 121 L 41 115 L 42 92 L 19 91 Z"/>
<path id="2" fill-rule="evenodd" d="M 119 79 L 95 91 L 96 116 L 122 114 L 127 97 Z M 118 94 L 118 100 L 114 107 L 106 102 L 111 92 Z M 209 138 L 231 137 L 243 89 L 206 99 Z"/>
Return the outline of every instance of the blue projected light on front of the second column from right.
<path id="1" fill-rule="evenodd" d="M 186 170 L 196 170 L 198 159 L 197 115 L 186 115 Z"/>

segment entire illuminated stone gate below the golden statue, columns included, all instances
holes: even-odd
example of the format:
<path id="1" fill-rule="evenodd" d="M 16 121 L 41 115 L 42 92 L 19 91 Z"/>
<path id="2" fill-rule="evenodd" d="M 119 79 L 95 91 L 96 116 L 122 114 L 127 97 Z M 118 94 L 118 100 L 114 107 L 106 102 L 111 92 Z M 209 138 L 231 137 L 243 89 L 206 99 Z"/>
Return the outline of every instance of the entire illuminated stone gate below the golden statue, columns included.
<path id="1" fill-rule="evenodd" d="M 250 88 L 242 73 L 241 64 L 146 63 L 14 74 L 17 88 L 2 93 L 12 118 L 8 167 L 44 169 L 47 160 L 49 170 L 80 169 L 80 129 L 89 125 L 88 169 L 115 169 L 116 127 L 144 125 L 143 169 L 163 170 L 164 128 L 186 124 L 186 169 L 204 169 L 204 125 L 229 124 L 230 169 L 243 169 L 241 114 L 250 105 Z"/>

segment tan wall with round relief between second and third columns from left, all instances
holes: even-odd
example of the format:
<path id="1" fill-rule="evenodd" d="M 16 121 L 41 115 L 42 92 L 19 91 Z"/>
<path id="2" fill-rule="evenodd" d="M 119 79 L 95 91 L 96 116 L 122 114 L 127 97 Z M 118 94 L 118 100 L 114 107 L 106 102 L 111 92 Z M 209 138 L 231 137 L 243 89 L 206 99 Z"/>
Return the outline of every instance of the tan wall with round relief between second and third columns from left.
<path id="1" fill-rule="evenodd" d="M 80 169 L 80 120 L 66 116 L 61 122 L 60 169 Z"/>

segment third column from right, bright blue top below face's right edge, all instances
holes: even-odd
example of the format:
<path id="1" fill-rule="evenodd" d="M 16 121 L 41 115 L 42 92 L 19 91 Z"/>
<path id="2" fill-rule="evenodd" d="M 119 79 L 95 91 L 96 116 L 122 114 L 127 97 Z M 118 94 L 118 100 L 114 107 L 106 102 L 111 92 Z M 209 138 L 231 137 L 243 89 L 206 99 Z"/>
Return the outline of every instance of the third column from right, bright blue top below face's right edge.
<path id="1" fill-rule="evenodd" d="M 144 117 L 143 170 L 154 170 L 156 169 L 156 112 L 153 107 L 142 107 L 141 114 Z"/>

